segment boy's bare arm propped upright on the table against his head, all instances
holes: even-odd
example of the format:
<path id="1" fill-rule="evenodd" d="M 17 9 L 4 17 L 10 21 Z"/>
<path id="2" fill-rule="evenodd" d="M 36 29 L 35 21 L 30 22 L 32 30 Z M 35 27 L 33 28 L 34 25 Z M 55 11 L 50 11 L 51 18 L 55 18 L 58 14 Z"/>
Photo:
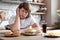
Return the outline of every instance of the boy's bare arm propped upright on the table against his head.
<path id="1" fill-rule="evenodd" d="M 16 18 L 13 24 L 10 25 L 11 31 L 20 31 L 20 17 L 19 17 L 19 9 L 16 10 Z"/>

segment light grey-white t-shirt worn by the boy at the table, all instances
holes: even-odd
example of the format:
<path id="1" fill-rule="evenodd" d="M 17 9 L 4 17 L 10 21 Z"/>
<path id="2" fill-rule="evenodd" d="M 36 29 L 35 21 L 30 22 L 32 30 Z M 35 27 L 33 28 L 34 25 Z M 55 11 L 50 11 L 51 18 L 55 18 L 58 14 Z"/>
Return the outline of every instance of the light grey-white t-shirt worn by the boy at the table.
<path id="1" fill-rule="evenodd" d="M 9 20 L 9 24 L 13 24 L 14 20 L 15 20 L 16 16 L 12 16 Z M 29 26 L 32 26 L 34 23 L 36 23 L 35 19 L 32 17 L 32 15 L 30 15 L 28 18 L 26 19 L 21 19 L 20 20 L 20 25 L 21 28 L 27 28 Z"/>

